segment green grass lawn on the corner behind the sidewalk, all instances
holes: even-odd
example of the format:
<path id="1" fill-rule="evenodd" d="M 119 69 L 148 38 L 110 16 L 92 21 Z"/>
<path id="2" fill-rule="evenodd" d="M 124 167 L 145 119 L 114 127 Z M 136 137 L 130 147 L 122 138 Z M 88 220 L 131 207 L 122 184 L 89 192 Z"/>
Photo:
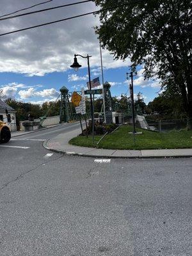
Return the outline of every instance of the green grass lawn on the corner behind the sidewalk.
<path id="1" fill-rule="evenodd" d="M 92 144 L 92 136 L 77 136 L 69 141 L 72 145 L 82 147 L 97 147 L 108 149 L 162 149 L 162 148 L 192 148 L 192 131 L 180 130 L 170 132 L 152 132 L 143 129 L 136 129 L 143 134 L 136 134 L 136 145 L 134 146 L 133 134 L 129 125 L 122 125 L 117 131 L 108 134 L 99 145 L 97 141 L 102 136 L 95 136 L 94 145 Z"/>

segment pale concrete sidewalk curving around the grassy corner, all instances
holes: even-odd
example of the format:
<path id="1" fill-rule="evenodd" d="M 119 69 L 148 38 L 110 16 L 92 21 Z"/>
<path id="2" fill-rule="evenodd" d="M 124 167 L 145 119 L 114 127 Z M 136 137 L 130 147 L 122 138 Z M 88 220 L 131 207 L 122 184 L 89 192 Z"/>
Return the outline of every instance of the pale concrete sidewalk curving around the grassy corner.
<path id="1" fill-rule="evenodd" d="M 158 158 L 158 157 L 192 157 L 192 148 L 161 150 L 110 150 L 69 145 L 68 141 L 77 136 L 79 129 L 65 132 L 44 142 L 44 147 L 54 152 L 74 156 L 105 158 Z"/>

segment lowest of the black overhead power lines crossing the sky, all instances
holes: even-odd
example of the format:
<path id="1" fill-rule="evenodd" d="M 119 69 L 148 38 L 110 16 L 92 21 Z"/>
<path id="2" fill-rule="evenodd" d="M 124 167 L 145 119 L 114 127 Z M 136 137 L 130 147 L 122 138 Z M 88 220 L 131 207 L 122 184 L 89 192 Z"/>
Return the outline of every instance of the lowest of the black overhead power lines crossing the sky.
<path id="1" fill-rule="evenodd" d="M 143 3 L 145 1 L 147 1 L 147 0 L 134 1 L 134 3 L 131 3 L 131 4 Z M 114 10 L 114 9 L 116 9 L 118 7 L 122 7 L 122 6 L 126 6 L 126 5 L 128 5 L 128 4 L 121 4 L 121 5 L 118 5 L 118 6 L 115 6 L 115 7 L 111 7 L 111 8 L 108 8 L 108 9 L 100 9 L 100 10 L 95 11 L 95 12 L 83 13 L 83 14 L 80 14 L 80 15 L 76 15 L 76 16 L 73 16 L 73 17 L 68 17 L 68 18 L 61 19 L 61 20 L 54 20 L 54 21 L 43 23 L 43 24 L 39 24 L 39 25 L 36 25 L 36 26 L 31 26 L 31 27 L 28 27 L 28 28 L 22 28 L 22 29 L 6 32 L 6 33 L 3 33 L 3 34 L 0 34 L 0 36 L 13 34 L 13 33 L 17 33 L 17 32 L 28 30 L 28 29 L 39 28 L 39 27 L 42 27 L 42 26 L 47 26 L 47 25 L 54 24 L 54 23 L 61 22 L 61 21 L 65 21 L 65 20 L 76 19 L 78 17 L 83 17 L 83 16 L 90 15 L 90 14 L 97 14 L 97 13 L 105 12 L 105 11 L 108 11 L 108 10 Z"/>

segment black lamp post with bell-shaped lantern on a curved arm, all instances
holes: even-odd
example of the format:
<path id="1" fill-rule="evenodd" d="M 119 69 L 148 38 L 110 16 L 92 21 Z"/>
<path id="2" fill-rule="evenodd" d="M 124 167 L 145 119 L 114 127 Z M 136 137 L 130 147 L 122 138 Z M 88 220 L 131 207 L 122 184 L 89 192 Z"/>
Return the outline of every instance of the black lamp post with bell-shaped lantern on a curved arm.
<path id="1" fill-rule="evenodd" d="M 94 117 L 93 117 L 93 101 L 92 101 L 92 86 L 91 86 L 91 73 L 90 73 L 90 57 L 87 54 L 87 56 L 82 56 L 80 54 L 74 54 L 74 63 L 70 65 L 71 68 L 74 68 L 75 71 L 77 71 L 79 68 L 81 68 L 81 65 L 77 62 L 77 56 L 80 56 L 81 58 L 86 58 L 88 63 L 88 76 L 89 76 L 89 84 L 90 84 L 90 102 L 91 102 L 91 111 L 92 111 L 92 139 L 94 142 Z"/>

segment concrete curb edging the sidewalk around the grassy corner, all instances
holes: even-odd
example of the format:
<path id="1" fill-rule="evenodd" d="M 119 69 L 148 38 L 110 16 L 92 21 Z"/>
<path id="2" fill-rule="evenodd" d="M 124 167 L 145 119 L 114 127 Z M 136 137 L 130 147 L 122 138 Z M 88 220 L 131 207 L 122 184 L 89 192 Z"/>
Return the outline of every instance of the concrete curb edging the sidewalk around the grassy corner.
<path id="1" fill-rule="evenodd" d="M 94 157 L 94 158 L 100 158 L 100 157 L 104 157 L 104 158 L 113 158 L 113 159 L 167 159 L 167 158 L 192 158 L 192 156 L 98 156 L 98 155 L 89 155 L 89 154 L 81 154 L 81 153 L 76 153 L 76 152 L 65 152 L 62 150 L 56 150 L 54 148 L 50 148 L 47 147 L 47 142 L 49 141 L 45 140 L 43 143 L 43 147 L 46 148 L 47 150 L 50 150 L 52 152 L 56 152 L 56 153 L 60 153 L 63 155 L 67 155 L 67 156 L 82 156 L 82 157 Z"/>

